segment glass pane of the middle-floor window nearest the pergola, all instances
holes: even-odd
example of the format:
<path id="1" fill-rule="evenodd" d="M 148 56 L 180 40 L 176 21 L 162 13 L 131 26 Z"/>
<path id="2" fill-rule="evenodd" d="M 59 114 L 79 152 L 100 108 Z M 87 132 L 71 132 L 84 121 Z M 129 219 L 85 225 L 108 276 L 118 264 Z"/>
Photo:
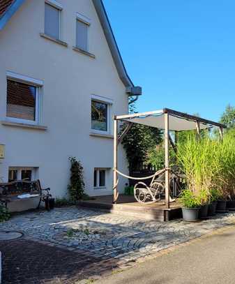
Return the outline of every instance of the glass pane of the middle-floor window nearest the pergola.
<path id="1" fill-rule="evenodd" d="M 91 100 L 91 129 L 108 132 L 108 104 Z"/>

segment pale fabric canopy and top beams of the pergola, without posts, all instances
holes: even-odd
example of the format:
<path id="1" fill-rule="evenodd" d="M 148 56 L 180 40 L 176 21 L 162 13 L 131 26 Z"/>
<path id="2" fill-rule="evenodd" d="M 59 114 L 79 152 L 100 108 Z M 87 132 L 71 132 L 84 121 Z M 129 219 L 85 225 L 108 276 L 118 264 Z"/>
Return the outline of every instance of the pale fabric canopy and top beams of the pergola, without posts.
<path id="1" fill-rule="evenodd" d="M 219 128 L 226 128 L 226 126 L 223 124 L 218 124 L 214 121 L 209 121 L 207 119 L 202 119 L 201 117 L 195 117 L 190 114 L 177 112 L 167 108 L 153 112 L 120 115 L 116 116 L 116 120 L 128 121 L 134 124 L 143 124 L 145 126 L 165 129 L 165 113 L 169 114 L 169 130 L 193 130 L 196 128 L 195 122 L 199 124 L 199 129 L 206 129 L 215 126 Z"/>

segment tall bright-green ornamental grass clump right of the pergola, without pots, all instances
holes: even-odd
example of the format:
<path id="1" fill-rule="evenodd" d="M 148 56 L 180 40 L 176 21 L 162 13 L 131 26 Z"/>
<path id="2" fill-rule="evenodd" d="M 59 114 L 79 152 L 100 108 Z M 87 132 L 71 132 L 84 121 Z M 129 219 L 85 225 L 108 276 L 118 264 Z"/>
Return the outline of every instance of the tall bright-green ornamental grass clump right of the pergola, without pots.
<path id="1" fill-rule="evenodd" d="M 186 188 L 200 197 L 201 204 L 210 200 L 211 190 L 219 186 L 222 165 L 218 156 L 218 141 L 209 137 L 197 139 L 190 135 L 179 144 L 177 158 L 185 173 Z"/>

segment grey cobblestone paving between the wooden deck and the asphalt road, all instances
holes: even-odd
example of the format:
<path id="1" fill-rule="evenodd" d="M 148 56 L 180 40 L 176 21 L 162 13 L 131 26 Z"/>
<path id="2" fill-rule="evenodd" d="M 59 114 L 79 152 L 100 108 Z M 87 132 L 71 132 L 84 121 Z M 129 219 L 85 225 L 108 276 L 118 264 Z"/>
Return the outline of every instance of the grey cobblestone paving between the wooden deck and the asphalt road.
<path id="1" fill-rule="evenodd" d="M 82 255 L 84 260 L 90 257 L 92 265 L 86 265 L 81 276 L 87 278 L 99 276 L 107 269 L 131 267 L 164 248 L 228 225 L 235 225 L 234 213 L 198 223 L 181 220 L 162 223 L 69 207 L 13 216 L 1 224 L 1 230 L 17 230 L 24 233 L 25 241 Z"/>

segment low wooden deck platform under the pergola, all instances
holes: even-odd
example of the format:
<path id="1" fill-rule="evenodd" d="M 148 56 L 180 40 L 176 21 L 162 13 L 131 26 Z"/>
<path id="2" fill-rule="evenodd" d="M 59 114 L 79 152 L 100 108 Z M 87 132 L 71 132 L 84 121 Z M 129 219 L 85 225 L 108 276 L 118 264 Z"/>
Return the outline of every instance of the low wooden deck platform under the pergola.
<path id="1" fill-rule="evenodd" d="M 94 200 L 79 202 L 80 207 L 89 209 L 102 209 L 115 214 L 138 216 L 149 220 L 170 221 L 181 218 L 181 206 L 179 202 L 172 202 L 169 209 L 165 209 L 165 202 L 153 204 L 141 204 L 134 196 L 119 195 L 116 204 L 112 203 L 112 195 L 94 197 Z"/>

